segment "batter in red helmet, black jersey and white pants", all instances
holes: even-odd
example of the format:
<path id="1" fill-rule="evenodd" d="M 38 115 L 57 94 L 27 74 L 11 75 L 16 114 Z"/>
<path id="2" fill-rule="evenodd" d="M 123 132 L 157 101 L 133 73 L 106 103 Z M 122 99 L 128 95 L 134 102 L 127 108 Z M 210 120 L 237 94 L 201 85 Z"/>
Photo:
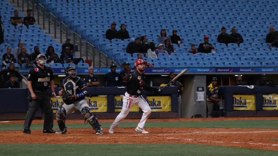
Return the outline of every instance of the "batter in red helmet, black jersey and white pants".
<path id="1" fill-rule="evenodd" d="M 123 97 L 123 106 L 122 111 L 116 117 L 115 121 L 112 123 L 109 129 L 109 133 L 114 133 L 115 128 L 122 122 L 122 120 L 127 116 L 129 113 L 130 108 L 136 104 L 140 107 L 143 111 L 142 118 L 138 123 L 138 127 L 136 127 L 135 131 L 143 134 L 147 134 L 149 132 L 145 131 L 144 126 L 146 123 L 147 118 L 151 115 L 151 108 L 147 101 L 142 97 L 141 91 L 144 88 L 145 90 L 158 94 L 161 92 L 159 88 L 153 88 L 147 85 L 144 81 L 145 79 L 145 61 L 139 59 L 135 61 L 135 72 L 129 78 L 129 82 L 127 84 L 127 92 Z"/>

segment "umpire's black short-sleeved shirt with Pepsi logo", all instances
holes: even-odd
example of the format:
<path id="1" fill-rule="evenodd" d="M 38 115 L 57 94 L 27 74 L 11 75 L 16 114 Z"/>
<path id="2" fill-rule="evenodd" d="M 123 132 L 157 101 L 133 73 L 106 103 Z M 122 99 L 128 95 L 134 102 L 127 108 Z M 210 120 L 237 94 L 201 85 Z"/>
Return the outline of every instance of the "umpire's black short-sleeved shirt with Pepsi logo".
<path id="1" fill-rule="evenodd" d="M 53 80 L 53 70 L 47 66 L 44 66 L 44 68 L 36 66 L 29 71 L 27 80 L 32 81 L 34 91 L 45 92 L 50 85 L 50 81 Z"/>

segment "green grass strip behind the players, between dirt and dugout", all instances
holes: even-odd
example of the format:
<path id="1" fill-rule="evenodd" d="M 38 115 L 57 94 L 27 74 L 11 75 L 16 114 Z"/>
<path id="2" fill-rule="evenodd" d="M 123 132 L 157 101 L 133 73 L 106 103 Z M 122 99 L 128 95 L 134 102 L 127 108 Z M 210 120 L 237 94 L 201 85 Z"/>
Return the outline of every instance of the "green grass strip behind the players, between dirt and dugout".
<path id="1" fill-rule="evenodd" d="M 133 128 L 138 122 L 122 122 L 119 128 Z M 102 128 L 109 128 L 111 123 L 100 123 Z M 72 128 L 92 128 L 89 124 L 67 124 Z M 234 121 L 191 121 L 191 122 L 147 122 L 145 127 L 199 127 L 199 128 L 266 128 L 278 129 L 278 120 L 234 120 Z M 54 129 L 58 129 L 54 123 Z M 0 131 L 22 130 L 23 124 L 0 124 Z M 31 130 L 43 129 L 42 124 L 32 124 Z"/>

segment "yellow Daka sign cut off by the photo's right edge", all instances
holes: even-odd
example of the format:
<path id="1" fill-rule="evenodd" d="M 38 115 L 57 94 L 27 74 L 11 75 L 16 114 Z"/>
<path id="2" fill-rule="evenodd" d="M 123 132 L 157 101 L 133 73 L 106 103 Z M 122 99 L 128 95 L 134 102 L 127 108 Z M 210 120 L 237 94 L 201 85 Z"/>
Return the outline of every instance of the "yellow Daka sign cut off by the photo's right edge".
<path id="1" fill-rule="evenodd" d="M 278 95 L 263 95 L 263 110 L 278 110 Z"/>

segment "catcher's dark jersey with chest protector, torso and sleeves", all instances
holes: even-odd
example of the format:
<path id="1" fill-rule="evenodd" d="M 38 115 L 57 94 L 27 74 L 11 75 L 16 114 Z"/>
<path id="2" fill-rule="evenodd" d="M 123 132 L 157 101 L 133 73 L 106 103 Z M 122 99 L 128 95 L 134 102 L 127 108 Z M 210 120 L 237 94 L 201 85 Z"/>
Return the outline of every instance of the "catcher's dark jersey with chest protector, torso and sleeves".
<path id="1" fill-rule="evenodd" d="M 68 77 L 66 77 L 65 79 L 63 79 L 61 84 L 63 90 L 65 90 L 70 95 L 76 95 L 81 93 L 81 96 L 75 99 L 74 101 L 85 99 L 85 96 L 89 91 L 87 84 L 78 76 L 70 80 L 68 79 Z"/>

